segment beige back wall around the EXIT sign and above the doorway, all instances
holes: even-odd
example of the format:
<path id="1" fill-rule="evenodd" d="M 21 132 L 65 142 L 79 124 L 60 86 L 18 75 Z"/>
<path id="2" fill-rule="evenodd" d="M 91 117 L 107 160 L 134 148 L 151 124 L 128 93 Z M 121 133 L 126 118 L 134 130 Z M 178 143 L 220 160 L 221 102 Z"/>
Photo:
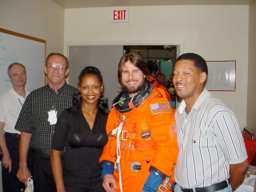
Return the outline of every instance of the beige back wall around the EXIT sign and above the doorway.
<path id="1" fill-rule="evenodd" d="M 236 60 L 236 91 L 212 94 L 234 111 L 241 128 L 246 126 L 248 5 L 126 8 L 128 23 L 110 23 L 110 8 L 66 9 L 64 45 L 183 41 L 182 52 Z"/>

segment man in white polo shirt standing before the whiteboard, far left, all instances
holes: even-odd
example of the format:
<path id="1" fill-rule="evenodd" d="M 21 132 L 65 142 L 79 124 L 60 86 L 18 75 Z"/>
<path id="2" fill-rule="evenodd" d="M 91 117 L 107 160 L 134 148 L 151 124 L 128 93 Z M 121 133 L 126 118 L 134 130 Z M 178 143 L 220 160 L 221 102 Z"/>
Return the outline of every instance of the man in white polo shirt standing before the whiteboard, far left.
<path id="1" fill-rule="evenodd" d="M 20 192 L 24 184 L 16 173 L 19 167 L 18 144 L 20 132 L 14 129 L 20 110 L 29 92 L 26 68 L 20 63 L 12 63 L 8 67 L 12 88 L 0 96 L 0 149 L 2 153 L 2 186 L 3 192 Z"/>

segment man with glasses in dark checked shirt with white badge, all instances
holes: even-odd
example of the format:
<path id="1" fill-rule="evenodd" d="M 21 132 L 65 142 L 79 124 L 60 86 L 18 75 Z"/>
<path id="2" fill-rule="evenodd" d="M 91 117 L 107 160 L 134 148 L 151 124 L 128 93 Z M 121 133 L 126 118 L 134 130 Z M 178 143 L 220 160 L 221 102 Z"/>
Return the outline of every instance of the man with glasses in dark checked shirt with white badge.
<path id="1" fill-rule="evenodd" d="M 58 116 L 73 105 L 72 97 L 78 90 L 66 84 L 65 77 L 69 68 L 68 58 L 64 55 L 50 53 L 46 58 L 44 72 L 48 84 L 28 95 L 15 126 L 21 132 L 17 177 L 27 184 L 32 175 L 36 192 L 55 192 L 50 166 L 52 136 Z M 29 148 L 32 149 L 32 174 L 27 165 Z"/>

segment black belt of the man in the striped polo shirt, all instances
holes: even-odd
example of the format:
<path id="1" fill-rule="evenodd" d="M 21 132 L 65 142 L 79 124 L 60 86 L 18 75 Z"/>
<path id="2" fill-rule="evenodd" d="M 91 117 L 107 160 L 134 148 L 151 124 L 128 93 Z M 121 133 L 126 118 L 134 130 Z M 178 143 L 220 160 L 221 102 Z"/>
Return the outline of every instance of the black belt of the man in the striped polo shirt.
<path id="1" fill-rule="evenodd" d="M 215 192 L 218 190 L 222 190 L 226 187 L 228 187 L 228 182 L 222 181 L 222 182 L 219 182 L 219 183 L 207 186 L 207 187 L 196 187 L 194 189 L 196 192 L 202 192 L 202 191 L 203 192 Z M 186 188 L 182 188 L 182 187 L 180 187 L 180 188 L 183 192 L 193 192 L 193 189 L 186 189 Z"/>

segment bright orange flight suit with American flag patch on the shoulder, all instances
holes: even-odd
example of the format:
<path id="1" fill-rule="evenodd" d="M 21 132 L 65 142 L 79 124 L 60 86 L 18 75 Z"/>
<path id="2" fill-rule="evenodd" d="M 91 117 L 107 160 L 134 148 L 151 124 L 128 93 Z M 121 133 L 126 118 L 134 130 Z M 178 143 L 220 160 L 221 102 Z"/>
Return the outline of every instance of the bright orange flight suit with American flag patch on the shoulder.
<path id="1" fill-rule="evenodd" d="M 112 108 L 106 125 L 107 133 L 118 127 L 121 116 L 125 116 L 120 134 L 120 167 L 124 192 L 140 192 L 148 178 L 149 167 L 154 166 L 166 176 L 173 172 L 178 156 L 175 133 L 174 112 L 166 98 L 160 94 L 163 90 L 154 88 L 152 93 L 138 107 L 129 112 L 120 113 Z M 153 106 L 163 106 L 154 109 Z M 157 107 L 156 107 L 157 108 Z M 126 132 L 127 131 L 127 132 Z M 150 131 L 149 138 L 142 138 L 141 133 Z M 109 134 L 111 135 L 111 134 Z M 108 137 L 100 162 L 116 162 L 116 134 Z M 138 162 L 141 170 L 133 172 L 132 162 Z M 114 169 L 113 176 L 120 191 L 119 173 Z"/>

